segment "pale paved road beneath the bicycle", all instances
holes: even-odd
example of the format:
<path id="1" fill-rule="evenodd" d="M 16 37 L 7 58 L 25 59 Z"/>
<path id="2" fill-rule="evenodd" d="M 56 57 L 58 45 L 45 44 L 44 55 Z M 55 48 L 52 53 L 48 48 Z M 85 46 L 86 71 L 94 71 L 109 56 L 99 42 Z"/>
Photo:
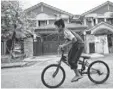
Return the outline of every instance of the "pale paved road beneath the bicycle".
<path id="1" fill-rule="evenodd" d="M 100 58 L 110 67 L 110 77 L 104 84 L 94 84 L 87 76 L 84 76 L 78 82 L 71 83 L 74 73 L 70 68 L 63 64 L 66 71 L 66 79 L 60 88 L 113 88 L 113 56 Z M 1 70 L 1 87 L 2 88 L 45 88 L 41 82 L 41 72 L 47 65 L 56 63 L 57 59 L 45 60 L 36 64 L 22 68 L 10 68 Z M 94 60 L 94 59 L 93 59 Z M 98 59 L 95 59 L 98 60 Z"/>

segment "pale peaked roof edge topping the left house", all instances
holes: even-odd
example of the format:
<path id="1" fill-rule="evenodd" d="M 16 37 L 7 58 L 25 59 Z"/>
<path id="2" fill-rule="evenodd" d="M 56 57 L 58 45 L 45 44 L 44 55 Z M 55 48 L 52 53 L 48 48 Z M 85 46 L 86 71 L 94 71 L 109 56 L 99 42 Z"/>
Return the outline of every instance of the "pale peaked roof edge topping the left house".
<path id="1" fill-rule="evenodd" d="M 46 3 L 43 3 L 43 2 L 40 2 L 40 3 L 38 3 L 38 4 L 36 4 L 36 5 L 34 5 L 34 6 L 30 7 L 30 8 L 28 8 L 28 9 L 26 9 L 26 10 L 24 10 L 24 11 L 25 11 L 25 12 L 32 11 L 33 9 L 35 9 L 35 8 L 41 6 L 41 5 L 46 6 L 46 7 L 49 7 L 49 8 L 51 8 L 51 9 L 56 10 L 56 11 L 58 11 L 58 12 L 61 12 L 61 13 L 63 13 L 63 14 L 66 14 L 66 15 L 69 15 L 69 16 L 73 16 L 73 14 L 71 14 L 71 13 L 69 13 L 69 12 L 63 11 L 63 10 L 61 10 L 61 9 L 58 9 L 58 8 L 56 8 L 56 7 L 53 7 L 53 6 L 48 5 L 48 4 L 46 4 Z"/>

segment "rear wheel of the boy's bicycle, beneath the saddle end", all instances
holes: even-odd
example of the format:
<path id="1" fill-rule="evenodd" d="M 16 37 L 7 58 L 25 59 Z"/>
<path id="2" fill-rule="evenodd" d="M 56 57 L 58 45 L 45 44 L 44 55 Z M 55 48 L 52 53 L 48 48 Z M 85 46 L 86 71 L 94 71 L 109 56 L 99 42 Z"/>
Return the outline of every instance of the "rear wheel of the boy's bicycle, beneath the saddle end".
<path id="1" fill-rule="evenodd" d="M 108 79 L 109 74 L 109 67 L 103 61 L 92 62 L 88 67 L 88 77 L 96 84 L 102 84 L 105 82 Z"/>

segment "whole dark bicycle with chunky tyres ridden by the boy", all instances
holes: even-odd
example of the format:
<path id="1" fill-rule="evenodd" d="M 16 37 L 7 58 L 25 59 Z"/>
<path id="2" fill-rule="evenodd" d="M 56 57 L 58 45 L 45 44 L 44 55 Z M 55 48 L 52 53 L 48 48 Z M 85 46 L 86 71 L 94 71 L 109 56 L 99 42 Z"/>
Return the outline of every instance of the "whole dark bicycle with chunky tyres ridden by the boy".
<path id="1" fill-rule="evenodd" d="M 66 56 L 64 56 L 64 50 L 61 49 L 62 51 L 62 56 L 61 56 L 61 59 L 60 61 L 58 61 L 58 64 L 51 64 L 51 65 L 48 65 L 47 67 L 44 68 L 44 70 L 42 71 L 42 75 L 41 75 L 41 80 L 42 80 L 42 83 L 48 87 L 48 88 L 57 88 L 59 86 L 61 86 L 65 80 L 65 77 L 66 77 L 66 74 L 65 74 L 65 70 L 64 68 L 61 66 L 61 63 L 64 62 L 66 65 L 70 66 L 68 64 L 68 61 L 66 60 Z M 81 75 L 83 74 L 87 74 L 88 75 L 88 78 L 93 82 L 93 83 L 96 83 L 96 84 L 102 84 L 104 83 L 109 75 L 110 75 L 110 70 L 109 70 L 109 67 L 108 65 L 101 61 L 101 60 L 97 60 L 97 61 L 94 61 L 92 63 L 88 63 L 87 59 L 90 59 L 89 56 L 81 56 L 83 58 L 83 61 L 80 61 L 79 60 L 79 63 L 81 65 L 81 69 L 79 69 L 79 73 Z M 99 63 L 99 64 L 98 64 Z M 97 65 L 96 65 L 97 64 Z M 100 65 L 103 65 L 102 67 L 99 67 Z M 52 69 L 53 68 L 53 69 Z M 103 72 L 103 70 L 105 71 L 106 69 L 106 73 Z M 48 71 L 49 70 L 49 71 Z M 85 72 L 85 70 L 87 70 Z M 49 75 L 47 75 L 47 72 L 49 72 Z M 58 74 L 61 73 L 62 76 L 58 76 Z M 51 75 L 50 75 L 51 74 Z M 100 77 L 100 76 L 104 76 L 104 78 L 102 80 L 98 80 L 99 78 L 97 77 L 93 77 L 92 75 L 95 74 L 96 77 L 97 75 Z M 51 85 L 51 84 L 48 84 L 47 81 L 46 81 L 46 78 L 45 76 L 47 75 L 47 81 L 49 82 L 50 81 L 50 78 L 52 79 L 56 79 L 56 81 L 52 81 L 53 84 L 55 84 L 57 81 L 58 84 L 55 84 L 55 85 Z M 49 78 L 50 77 L 50 78 Z"/>

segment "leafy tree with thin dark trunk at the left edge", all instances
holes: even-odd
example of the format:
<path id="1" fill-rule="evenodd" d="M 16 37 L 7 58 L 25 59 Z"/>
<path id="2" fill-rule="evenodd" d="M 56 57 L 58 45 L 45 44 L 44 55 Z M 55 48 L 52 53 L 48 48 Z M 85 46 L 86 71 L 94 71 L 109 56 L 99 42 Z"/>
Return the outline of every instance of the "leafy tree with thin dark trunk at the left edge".
<path id="1" fill-rule="evenodd" d="M 27 30 L 28 27 L 26 16 L 18 1 L 1 2 L 1 39 L 2 41 L 11 40 L 9 52 L 12 57 L 16 40 L 33 35 L 30 30 Z"/>

